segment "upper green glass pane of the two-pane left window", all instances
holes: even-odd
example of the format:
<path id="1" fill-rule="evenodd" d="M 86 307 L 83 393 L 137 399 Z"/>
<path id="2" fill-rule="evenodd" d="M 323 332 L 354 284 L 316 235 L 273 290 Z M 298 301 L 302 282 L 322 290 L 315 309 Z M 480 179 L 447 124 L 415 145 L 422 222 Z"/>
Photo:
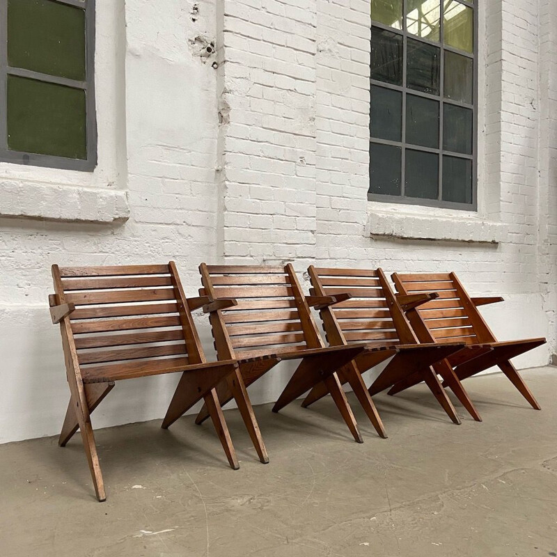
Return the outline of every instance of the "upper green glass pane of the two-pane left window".
<path id="1" fill-rule="evenodd" d="M 51 0 L 8 0 L 8 64 L 85 79 L 85 10 Z"/>

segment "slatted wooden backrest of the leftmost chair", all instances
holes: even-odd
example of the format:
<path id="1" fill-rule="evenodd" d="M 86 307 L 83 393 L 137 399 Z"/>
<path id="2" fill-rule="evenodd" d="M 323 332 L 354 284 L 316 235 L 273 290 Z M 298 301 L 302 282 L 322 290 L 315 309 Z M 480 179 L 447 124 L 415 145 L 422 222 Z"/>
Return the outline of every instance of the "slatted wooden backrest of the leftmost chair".
<path id="1" fill-rule="evenodd" d="M 53 265 L 52 276 L 51 306 L 76 306 L 64 317 L 63 336 L 84 379 L 155 375 L 205 361 L 174 262 Z"/>

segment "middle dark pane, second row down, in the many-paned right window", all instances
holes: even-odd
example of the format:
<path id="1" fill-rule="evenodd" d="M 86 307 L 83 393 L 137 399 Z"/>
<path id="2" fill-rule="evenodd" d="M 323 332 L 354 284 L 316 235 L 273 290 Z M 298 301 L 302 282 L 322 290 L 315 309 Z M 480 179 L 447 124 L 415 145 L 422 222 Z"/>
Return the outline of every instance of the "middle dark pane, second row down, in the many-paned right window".
<path id="1" fill-rule="evenodd" d="M 439 48 L 408 39 L 407 49 L 407 87 L 439 95 Z"/>

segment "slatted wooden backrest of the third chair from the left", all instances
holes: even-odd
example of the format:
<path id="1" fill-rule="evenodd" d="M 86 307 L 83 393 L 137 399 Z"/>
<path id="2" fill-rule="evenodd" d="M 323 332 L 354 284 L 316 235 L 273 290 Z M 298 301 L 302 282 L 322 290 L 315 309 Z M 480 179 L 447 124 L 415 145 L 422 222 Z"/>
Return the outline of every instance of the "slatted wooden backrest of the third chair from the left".
<path id="1" fill-rule="evenodd" d="M 397 304 L 382 269 L 309 267 L 311 294 L 331 296 L 344 292 L 351 299 L 323 308 L 320 315 L 329 343 L 366 342 L 370 345 L 417 343 Z"/>

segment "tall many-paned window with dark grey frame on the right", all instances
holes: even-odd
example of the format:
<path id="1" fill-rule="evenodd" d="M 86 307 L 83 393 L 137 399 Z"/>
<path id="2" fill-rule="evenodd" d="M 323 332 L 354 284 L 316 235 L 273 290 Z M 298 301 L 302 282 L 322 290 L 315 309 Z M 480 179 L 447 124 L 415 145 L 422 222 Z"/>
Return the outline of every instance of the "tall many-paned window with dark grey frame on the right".
<path id="1" fill-rule="evenodd" d="M 476 8 L 371 0 L 371 201 L 476 209 Z"/>

